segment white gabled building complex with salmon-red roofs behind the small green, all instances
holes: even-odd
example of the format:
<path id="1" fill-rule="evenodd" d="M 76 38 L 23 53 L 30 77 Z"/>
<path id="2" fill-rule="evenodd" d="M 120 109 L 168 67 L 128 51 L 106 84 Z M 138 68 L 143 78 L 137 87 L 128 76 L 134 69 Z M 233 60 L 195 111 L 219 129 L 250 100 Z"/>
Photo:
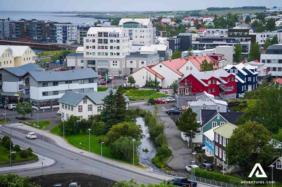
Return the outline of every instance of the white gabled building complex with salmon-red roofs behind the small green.
<path id="1" fill-rule="evenodd" d="M 155 79 L 157 77 L 160 81 L 160 85 L 163 88 L 169 88 L 174 80 L 180 81 L 183 77 L 189 75 L 191 72 L 199 72 L 200 64 L 203 60 L 214 63 L 214 69 L 218 69 L 218 62 L 209 57 L 205 56 L 190 56 L 188 59 L 179 58 L 173 60 L 162 61 L 158 64 L 151 66 L 144 66 L 139 70 L 128 75 L 132 76 L 138 87 L 143 87 L 146 83 L 146 79 Z"/>

